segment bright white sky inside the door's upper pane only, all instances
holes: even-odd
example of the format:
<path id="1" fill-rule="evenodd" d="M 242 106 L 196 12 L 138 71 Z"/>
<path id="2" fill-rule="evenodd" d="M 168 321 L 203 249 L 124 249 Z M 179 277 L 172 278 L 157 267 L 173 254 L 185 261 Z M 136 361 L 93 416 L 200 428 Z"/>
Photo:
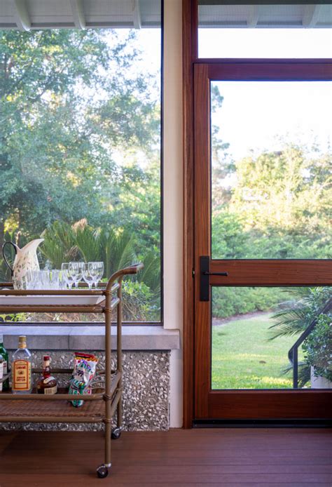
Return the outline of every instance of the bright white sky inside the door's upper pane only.
<path id="1" fill-rule="evenodd" d="M 332 143 L 332 82 L 322 81 L 213 81 L 223 104 L 212 124 L 228 142 L 228 152 L 240 159 L 251 150 L 281 150 L 284 141 Z"/>

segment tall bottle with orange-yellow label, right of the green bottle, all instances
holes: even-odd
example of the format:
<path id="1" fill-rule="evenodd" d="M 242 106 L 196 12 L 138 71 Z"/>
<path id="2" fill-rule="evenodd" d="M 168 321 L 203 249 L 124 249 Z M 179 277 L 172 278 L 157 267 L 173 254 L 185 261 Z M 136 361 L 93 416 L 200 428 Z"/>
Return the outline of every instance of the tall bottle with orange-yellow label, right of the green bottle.
<path id="1" fill-rule="evenodd" d="M 12 391 L 13 394 L 30 394 L 32 392 L 31 377 L 32 356 L 27 349 L 25 336 L 18 338 L 18 349 L 13 353 L 12 370 Z"/>

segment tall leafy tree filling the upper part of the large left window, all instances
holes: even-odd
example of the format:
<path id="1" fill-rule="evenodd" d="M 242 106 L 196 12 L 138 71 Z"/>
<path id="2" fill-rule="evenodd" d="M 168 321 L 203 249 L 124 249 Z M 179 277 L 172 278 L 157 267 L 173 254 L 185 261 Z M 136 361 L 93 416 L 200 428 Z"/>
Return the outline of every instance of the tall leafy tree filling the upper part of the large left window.
<path id="1" fill-rule="evenodd" d="M 6 226 L 36 236 L 58 219 L 116 223 L 126 171 L 116 156 L 136 148 L 153 159 L 159 137 L 150 77 L 127 75 L 138 55 L 132 32 L 0 33 L 1 237 Z"/>

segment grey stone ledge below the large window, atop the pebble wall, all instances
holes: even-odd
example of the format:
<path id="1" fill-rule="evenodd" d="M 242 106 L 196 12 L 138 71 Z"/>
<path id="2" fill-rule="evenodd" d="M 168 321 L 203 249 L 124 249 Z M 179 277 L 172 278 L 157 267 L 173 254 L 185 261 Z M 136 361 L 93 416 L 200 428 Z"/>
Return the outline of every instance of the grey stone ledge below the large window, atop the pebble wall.
<path id="1" fill-rule="evenodd" d="M 104 350 L 104 326 L 0 326 L 4 346 L 17 349 L 18 335 L 27 335 L 33 350 Z M 112 349 L 116 347 L 116 326 L 111 328 Z M 173 350 L 180 348 L 179 330 L 162 326 L 123 326 L 123 350 Z"/>

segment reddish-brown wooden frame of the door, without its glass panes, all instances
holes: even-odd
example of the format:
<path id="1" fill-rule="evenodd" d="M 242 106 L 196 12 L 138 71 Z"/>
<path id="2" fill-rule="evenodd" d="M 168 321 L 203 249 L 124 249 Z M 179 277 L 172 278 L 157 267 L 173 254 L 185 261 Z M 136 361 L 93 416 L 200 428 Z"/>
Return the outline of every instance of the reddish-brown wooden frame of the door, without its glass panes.
<path id="1" fill-rule="evenodd" d="M 209 299 L 200 290 L 200 256 L 211 254 L 211 81 L 330 81 L 331 60 L 231 60 L 194 64 L 195 180 L 195 413 L 196 420 L 328 421 L 332 392 L 325 389 L 212 389 L 212 286 L 330 286 L 330 259 L 241 259 L 209 261 Z M 224 272 L 227 276 L 223 276 Z M 219 275 L 218 275 L 219 274 Z"/>

